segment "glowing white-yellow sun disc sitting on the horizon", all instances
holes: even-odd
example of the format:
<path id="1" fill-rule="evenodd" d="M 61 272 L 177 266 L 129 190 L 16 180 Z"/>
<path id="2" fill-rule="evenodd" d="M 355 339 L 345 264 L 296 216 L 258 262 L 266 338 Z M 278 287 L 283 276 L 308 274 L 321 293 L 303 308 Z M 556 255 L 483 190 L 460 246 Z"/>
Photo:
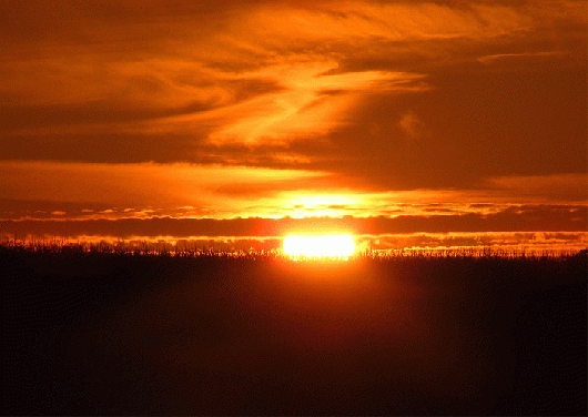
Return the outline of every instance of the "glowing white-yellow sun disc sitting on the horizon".
<path id="1" fill-rule="evenodd" d="M 355 243 L 347 234 L 284 238 L 284 254 L 292 257 L 347 257 L 353 255 L 354 251 Z"/>

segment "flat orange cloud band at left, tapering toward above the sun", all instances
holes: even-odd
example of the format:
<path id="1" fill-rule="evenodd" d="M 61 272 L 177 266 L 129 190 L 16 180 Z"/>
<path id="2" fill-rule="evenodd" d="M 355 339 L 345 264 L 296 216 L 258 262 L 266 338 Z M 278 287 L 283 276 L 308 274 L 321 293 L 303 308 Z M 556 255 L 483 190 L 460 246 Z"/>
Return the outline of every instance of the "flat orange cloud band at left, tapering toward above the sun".
<path id="1" fill-rule="evenodd" d="M 201 215 L 235 215 L 251 201 L 314 185 L 330 175 L 306 170 L 270 170 L 191 164 L 91 164 L 0 162 L 0 194 L 12 201 L 90 203 L 113 206 L 172 207 L 192 205 Z M 308 183 L 310 184 L 310 183 Z M 239 193 L 223 187 L 237 187 Z M 250 190 L 245 192 L 245 190 Z M 263 195 L 258 192 L 263 190 Z M 245 204 L 240 199 L 245 195 Z M 223 213 L 223 214 L 221 214 Z"/>

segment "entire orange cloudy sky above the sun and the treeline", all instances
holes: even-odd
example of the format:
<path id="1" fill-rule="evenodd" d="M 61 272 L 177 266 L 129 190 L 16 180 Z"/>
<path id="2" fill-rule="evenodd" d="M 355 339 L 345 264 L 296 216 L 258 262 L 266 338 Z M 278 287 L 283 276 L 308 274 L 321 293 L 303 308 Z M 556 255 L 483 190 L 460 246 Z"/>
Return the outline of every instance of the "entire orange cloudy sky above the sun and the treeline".
<path id="1" fill-rule="evenodd" d="M 0 237 L 588 246 L 585 1 L 2 1 Z"/>

